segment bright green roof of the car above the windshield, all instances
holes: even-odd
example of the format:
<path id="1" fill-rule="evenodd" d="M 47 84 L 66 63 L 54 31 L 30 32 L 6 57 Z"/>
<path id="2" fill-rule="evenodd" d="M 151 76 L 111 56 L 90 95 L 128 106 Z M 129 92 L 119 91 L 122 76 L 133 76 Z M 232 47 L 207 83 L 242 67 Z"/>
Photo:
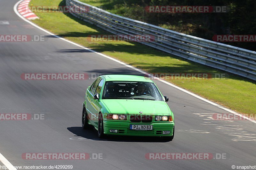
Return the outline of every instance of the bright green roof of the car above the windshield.
<path id="1" fill-rule="evenodd" d="M 147 77 L 135 76 L 135 75 L 121 75 L 121 74 L 109 74 L 103 75 L 106 81 L 140 81 L 140 82 L 153 82 Z"/>

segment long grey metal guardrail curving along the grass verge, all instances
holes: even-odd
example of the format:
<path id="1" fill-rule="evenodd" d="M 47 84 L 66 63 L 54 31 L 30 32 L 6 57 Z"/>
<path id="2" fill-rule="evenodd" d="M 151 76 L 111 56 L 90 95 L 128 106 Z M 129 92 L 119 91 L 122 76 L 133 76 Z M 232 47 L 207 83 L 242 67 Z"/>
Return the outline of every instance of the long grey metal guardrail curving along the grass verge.
<path id="1" fill-rule="evenodd" d="M 205 40 L 121 17 L 78 0 L 66 0 L 66 5 L 87 6 L 87 12 L 71 14 L 113 34 L 162 37 L 165 38 L 165 41 L 140 41 L 140 43 L 196 63 L 256 80 L 256 51 Z"/>

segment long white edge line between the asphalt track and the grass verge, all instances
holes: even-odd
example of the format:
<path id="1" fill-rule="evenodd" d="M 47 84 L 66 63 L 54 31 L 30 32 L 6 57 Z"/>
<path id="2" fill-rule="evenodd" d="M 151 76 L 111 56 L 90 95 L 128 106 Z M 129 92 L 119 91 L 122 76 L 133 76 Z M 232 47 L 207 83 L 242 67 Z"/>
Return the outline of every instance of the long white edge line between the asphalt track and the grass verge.
<path id="1" fill-rule="evenodd" d="M 131 69 L 133 69 L 133 70 L 139 71 L 140 73 L 143 73 L 143 74 L 145 74 L 145 75 L 149 75 L 149 73 L 147 73 L 147 72 L 145 72 L 145 71 L 142 71 L 142 70 L 140 70 L 140 69 L 137 69 L 137 68 L 135 68 L 135 67 L 132 67 L 131 65 L 128 65 L 128 64 L 126 64 L 126 63 L 124 63 L 124 62 L 121 62 L 121 61 L 119 61 L 119 60 L 116 60 L 116 59 L 114 59 L 114 58 L 112 58 L 112 57 L 110 57 L 110 56 L 108 56 L 108 55 L 101 54 L 101 53 L 96 52 L 96 51 L 94 51 L 94 50 L 92 50 L 92 49 L 89 49 L 89 48 L 86 48 L 86 47 L 81 46 L 81 45 L 79 45 L 79 44 L 76 44 L 75 42 L 72 42 L 72 41 L 66 40 L 66 39 L 64 39 L 64 38 L 61 38 L 61 37 L 59 37 L 58 35 L 55 35 L 55 34 L 49 32 L 49 31 L 45 30 L 44 28 L 41 28 L 40 26 L 37 26 L 36 24 L 34 24 L 33 22 L 29 21 L 28 19 L 23 18 L 23 17 L 20 15 L 20 13 L 17 11 L 17 6 L 18 6 L 19 3 L 22 2 L 22 1 L 23 1 L 23 0 L 20 0 L 19 2 L 17 2 L 17 3 L 14 5 L 13 10 L 14 10 L 14 12 L 15 12 L 21 19 L 23 19 L 24 21 L 28 22 L 28 23 L 31 24 L 32 26 L 35 26 L 36 28 L 38 28 L 38 29 L 44 31 L 45 33 L 48 33 L 48 34 L 50 34 L 50 35 L 52 35 L 52 36 L 54 36 L 54 37 L 57 37 L 57 38 L 59 38 L 60 40 L 66 41 L 66 42 L 68 42 L 68 43 L 70 43 L 70 44 L 73 44 L 73 45 L 75 45 L 75 46 L 77 46 L 77 47 L 83 48 L 83 49 L 88 50 L 88 51 L 91 51 L 91 52 L 93 52 L 93 53 L 95 53 L 95 54 L 98 54 L 98 55 L 101 55 L 101 56 L 103 56 L 103 57 L 106 57 L 106 58 L 108 58 L 108 59 L 110 59 L 110 60 L 113 60 L 113 61 L 115 61 L 115 62 L 117 62 L 117 63 L 123 64 L 123 65 L 125 65 L 126 67 L 129 67 L 129 68 L 131 68 Z M 150 75 L 149 75 L 149 76 L 150 76 Z M 203 101 L 205 101 L 205 102 L 207 102 L 207 103 L 210 103 L 210 104 L 212 104 L 212 105 L 214 105 L 214 106 L 217 106 L 217 107 L 219 107 L 219 108 L 221 108 L 221 109 L 223 109 L 223 110 L 226 110 L 226 111 L 228 111 L 228 112 L 230 112 L 230 113 L 233 113 L 234 115 L 240 116 L 240 117 L 242 117 L 242 118 L 244 118 L 244 119 L 246 119 L 246 120 L 249 120 L 249 121 L 251 121 L 251 122 L 253 122 L 253 123 L 256 123 L 255 120 L 253 120 L 253 119 L 251 119 L 251 118 L 249 118 L 249 117 L 246 117 L 246 116 L 244 116 L 244 115 L 241 115 L 241 114 L 239 114 L 239 113 L 236 113 L 235 111 L 230 110 L 230 109 L 228 109 L 228 108 L 226 108 L 226 107 L 220 106 L 220 105 L 218 105 L 218 104 L 216 104 L 216 103 L 214 103 L 214 102 L 212 102 L 212 101 L 210 101 L 210 100 L 204 99 L 204 98 L 202 98 L 202 97 L 200 97 L 200 96 L 198 96 L 198 95 L 196 95 L 196 94 L 194 94 L 194 93 L 192 93 L 192 92 L 189 92 L 189 91 L 187 91 L 187 90 L 185 90 L 185 89 L 182 89 L 182 88 L 180 88 L 180 87 L 178 87 L 178 86 L 176 86 L 176 85 L 173 85 L 172 83 L 169 83 L 169 82 L 167 82 L 167 81 L 165 81 L 165 80 L 163 80 L 163 79 L 159 79 L 159 78 L 157 78 L 157 77 L 153 77 L 153 78 L 154 78 L 154 79 L 158 79 L 159 81 L 161 81 L 161 82 L 163 82 L 163 83 L 165 83 L 165 84 L 167 84 L 167 85 L 170 85 L 170 86 L 172 86 L 172 87 L 174 87 L 174 88 L 176 88 L 176 89 L 179 89 L 179 90 L 181 90 L 182 92 L 188 93 L 188 94 L 190 94 L 191 96 L 194 96 L 194 97 L 196 97 L 196 98 L 198 98 L 198 99 L 200 99 L 200 100 L 203 100 Z"/>

